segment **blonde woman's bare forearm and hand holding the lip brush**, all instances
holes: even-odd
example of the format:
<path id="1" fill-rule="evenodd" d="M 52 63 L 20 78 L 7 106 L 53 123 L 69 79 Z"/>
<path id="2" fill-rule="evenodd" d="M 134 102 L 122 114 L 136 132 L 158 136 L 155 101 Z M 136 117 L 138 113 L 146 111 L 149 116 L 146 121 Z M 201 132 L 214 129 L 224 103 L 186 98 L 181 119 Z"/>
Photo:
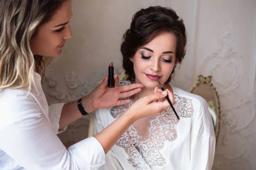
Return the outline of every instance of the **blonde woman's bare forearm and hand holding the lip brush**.
<path id="1" fill-rule="evenodd" d="M 163 99 L 167 94 L 172 103 L 174 103 L 173 94 L 169 90 L 145 96 L 134 102 L 118 119 L 97 133 L 94 137 L 100 142 L 105 153 L 108 153 L 125 130 L 137 119 L 157 115 L 163 109 L 168 108 L 170 105 L 167 100 L 154 102 L 155 100 Z"/>

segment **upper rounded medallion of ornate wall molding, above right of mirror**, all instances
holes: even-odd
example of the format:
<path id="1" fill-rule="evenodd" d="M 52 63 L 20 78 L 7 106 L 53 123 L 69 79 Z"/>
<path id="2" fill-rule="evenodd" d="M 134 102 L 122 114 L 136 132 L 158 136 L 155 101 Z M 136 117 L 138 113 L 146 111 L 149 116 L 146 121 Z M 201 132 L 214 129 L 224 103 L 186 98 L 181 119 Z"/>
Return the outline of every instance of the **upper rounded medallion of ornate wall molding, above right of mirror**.
<path id="1" fill-rule="evenodd" d="M 212 75 L 214 84 L 224 94 L 238 88 L 244 77 L 244 60 L 230 47 L 231 41 L 233 38 L 229 32 L 221 35 L 221 48 L 209 54 L 200 68 L 201 73 Z"/>

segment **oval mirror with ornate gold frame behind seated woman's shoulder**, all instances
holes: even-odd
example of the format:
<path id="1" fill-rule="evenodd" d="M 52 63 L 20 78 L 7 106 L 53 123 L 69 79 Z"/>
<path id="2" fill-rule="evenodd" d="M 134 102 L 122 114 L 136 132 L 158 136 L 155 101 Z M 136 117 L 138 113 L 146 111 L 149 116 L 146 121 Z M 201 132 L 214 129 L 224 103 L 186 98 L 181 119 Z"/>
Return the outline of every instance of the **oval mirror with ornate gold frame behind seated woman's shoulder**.
<path id="1" fill-rule="evenodd" d="M 212 84 L 212 76 L 204 77 L 199 75 L 196 84 L 189 92 L 192 94 L 197 94 L 207 101 L 209 112 L 212 116 L 217 144 L 220 130 L 221 109 L 218 92 L 215 86 Z"/>

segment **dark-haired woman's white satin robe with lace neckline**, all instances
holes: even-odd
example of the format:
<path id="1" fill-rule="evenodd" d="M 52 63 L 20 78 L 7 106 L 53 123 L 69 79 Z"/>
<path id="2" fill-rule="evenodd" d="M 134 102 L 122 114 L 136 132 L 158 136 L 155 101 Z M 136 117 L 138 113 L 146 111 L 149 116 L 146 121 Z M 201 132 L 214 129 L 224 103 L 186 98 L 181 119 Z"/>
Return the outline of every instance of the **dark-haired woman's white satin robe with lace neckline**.
<path id="1" fill-rule="evenodd" d="M 121 85 L 131 84 L 130 81 Z M 100 170 L 210 170 L 215 153 L 215 133 L 207 102 L 173 87 L 175 110 L 163 110 L 148 120 L 145 132 L 131 125 L 106 155 Z M 132 100 L 132 103 L 134 100 Z M 94 134 L 110 125 L 132 103 L 93 114 Z"/>

